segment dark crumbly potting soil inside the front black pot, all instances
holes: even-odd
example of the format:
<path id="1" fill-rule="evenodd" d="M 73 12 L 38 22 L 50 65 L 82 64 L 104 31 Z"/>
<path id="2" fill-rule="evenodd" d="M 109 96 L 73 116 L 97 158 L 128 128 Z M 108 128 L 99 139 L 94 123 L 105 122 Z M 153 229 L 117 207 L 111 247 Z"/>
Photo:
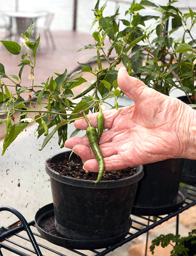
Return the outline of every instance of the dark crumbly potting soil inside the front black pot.
<path id="1" fill-rule="evenodd" d="M 76 179 L 82 180 L 97 180 L 98 173 L 85 171 L 83 169 L 83 163 L 79 156 L 72 154 L 69 161 L 69 153 L 65 152 L 64 158 L 56 158 L 55 161 L 51 159 L 46 160 L 49 168 L 59 173 L 61 176 L 68 176 Z M 115 171 L 106 171 L 101 180 L 120 180 L 127 177 L 130 177 L 136 174 L 137 171 L 135 167 L 128 167 L 122 170 L 119 170 L 118 174 Z"/>

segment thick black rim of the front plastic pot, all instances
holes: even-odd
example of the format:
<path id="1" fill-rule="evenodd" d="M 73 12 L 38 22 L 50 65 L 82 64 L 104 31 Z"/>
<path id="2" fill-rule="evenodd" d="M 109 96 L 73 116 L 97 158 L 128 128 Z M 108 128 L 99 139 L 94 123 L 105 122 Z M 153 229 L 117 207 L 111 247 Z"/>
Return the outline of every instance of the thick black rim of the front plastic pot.
<path id="1" fill-rule="evenodd" d="M 52 160 L 52 158 L 55 158 L 58 155 L 63 155 L 65 152 L 69 152 L 69 151 L 71 153 L 71 150 L 66 150 L 64 152 L 54 154 L 50 159 Z M 136 167 L 137 167 L 137 173 L 134 174 L 133 176 L 130 176 L 130 177 L 127 177 L 127 178 L 124 178 L 121 180 L 100 181 L 97 184 L 95 184 L 95 182 L 91 181 L 91 180 L 81 180 L 81 179 L 76 179 L 73 177 L 61 176 L 59 173 L 52 170 L 48 166 L 47 162 L 46 162 L 45 171 L 52 179 L 55 179 L 59 182 L 67 184 L 67 185 L 86 187 L 86 188 L 113 188 L 113 187 L 128 186 L 128 185 L 134 184 L 134 183 L 138 182 L 140 179 L 142 179 L 142 177 L 144 175 L 143 165 L 139 165 Z"/>

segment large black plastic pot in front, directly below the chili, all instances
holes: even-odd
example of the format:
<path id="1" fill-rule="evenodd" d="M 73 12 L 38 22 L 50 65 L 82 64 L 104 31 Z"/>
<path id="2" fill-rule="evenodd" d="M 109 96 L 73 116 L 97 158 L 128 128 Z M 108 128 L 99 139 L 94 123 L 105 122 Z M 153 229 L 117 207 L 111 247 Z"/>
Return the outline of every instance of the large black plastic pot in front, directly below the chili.
<path id="1" fill-rule="evenodd" d="M 64 158 L 70 153 L 59 153 L 51 160 Z M 124 238 L 131 227 L 130 213 L 137 183 L 143 176 L 142 166 L 136 170 L 131 177 L 95 184 L 89 180 L 62 177 L 46 164 L 58 233 L 69 239 L 99 240 L 99 248 L 109 246 L 106 243 L 108 238 L 114 238 L 110 244 Z"/>

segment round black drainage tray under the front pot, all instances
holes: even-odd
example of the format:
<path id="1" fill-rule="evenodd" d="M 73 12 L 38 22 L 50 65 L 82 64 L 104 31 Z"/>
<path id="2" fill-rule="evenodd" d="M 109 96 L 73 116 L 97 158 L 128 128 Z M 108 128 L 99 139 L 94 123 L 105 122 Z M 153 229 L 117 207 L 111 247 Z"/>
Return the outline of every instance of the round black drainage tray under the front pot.
<path id="1" fill-rule="evenodd" d="M 35 215 L 35 224 L 37 230 L 44 239 L 58 246 L 78 250 L 105 248 L 119 242 L 120 240 L 122 240 L 123 237 L 127 235 L 126 232 L 126 234 L 121 234 L 112 238 L 88 241 L 61 237 L 61 235 L 58 234 L 55 228 L 53 203 L 45 205 L 37 211 Z"/>

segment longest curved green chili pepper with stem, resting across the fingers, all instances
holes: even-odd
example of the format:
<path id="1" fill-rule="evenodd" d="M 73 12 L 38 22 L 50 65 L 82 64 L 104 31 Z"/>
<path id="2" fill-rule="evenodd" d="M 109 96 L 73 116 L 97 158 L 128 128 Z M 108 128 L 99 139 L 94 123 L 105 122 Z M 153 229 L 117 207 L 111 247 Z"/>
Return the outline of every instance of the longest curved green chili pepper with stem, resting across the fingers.
<path id="1" fill-rule="evenodd" d="M 99 149 L 99 145 L 98 145 L 98 140 L 97 140 L 97 131 L 96 128 L 93 127 L 90 122 L 88 121 L 86 114 L 84 112 L 82 112 L 86 122 L 88 123 L 88 127 L 86 129 L 86 135 L 88 137 L 89 143 L 90 143 L 90 147 L 98 161 L 98 165 L 99 165 L 99 172 L 98 172 L 98 177 L 97 180 L 95 181 L 95 183 L 98 183 L 102 176 L 103 176 L 103 172 L 104 172 L 104 160 L 103 160 L 103 156 L 101 155 L 101 151 Z"/>

